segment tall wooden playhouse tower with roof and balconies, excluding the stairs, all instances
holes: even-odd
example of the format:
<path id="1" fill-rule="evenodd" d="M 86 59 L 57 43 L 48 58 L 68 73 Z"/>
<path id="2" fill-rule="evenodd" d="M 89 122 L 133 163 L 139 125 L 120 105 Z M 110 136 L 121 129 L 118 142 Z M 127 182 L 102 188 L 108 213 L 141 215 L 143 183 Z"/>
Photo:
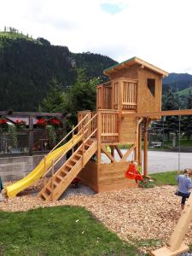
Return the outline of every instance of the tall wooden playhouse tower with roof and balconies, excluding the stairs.
<path id="1" fill-rule="evenodd" d="M 133 160 L 142 164 L 142 124 L 146 127 L 151 119 L 130 117 L 132 113 L 151 113 L 161 111 L 162 78 L 168 73 L 154 67 L 137 57 L 124 61 L 104 70 L 109 82 L 97 86 L 96 113 L 94 123 L 98 129 L 96 162 L 89 161 L 79 176 L 96 192 L 125 189 L 137 186 L 135 180 L 125 179 L 127 158 L 133 154 Z M 80 112 L 79 121 L 94 113 Z M 147 132 L 147 128 L 146 128 Z M 92 137 L 93 139 L 93 137 Z M 147 139 L 146 139 L 147 140 Z M 145 140 L 144 174 L 147 174 L 147 141 Z M 129 149 L 123 155 L 119 145 Z M 106 150 L 111 148 L 111 154 Z M 114 150 L 119 154 L 119 161 L 114 160 Z M 108 156 L 111 163 L 103 164 L 101 153 Z"/>

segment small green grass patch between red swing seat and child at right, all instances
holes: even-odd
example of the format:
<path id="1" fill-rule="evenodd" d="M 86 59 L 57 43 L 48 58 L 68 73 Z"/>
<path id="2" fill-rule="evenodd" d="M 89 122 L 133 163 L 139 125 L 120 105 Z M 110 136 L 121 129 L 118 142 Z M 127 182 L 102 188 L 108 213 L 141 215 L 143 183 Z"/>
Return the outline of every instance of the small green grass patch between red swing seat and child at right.
<path id="1" fill-rule="evenodd" d="M 177 185 L 176 177 L 177 172 L 160 172 L 149 174 L 152 179 L 154 179 L 155 186 L 163 186 L 163 185 Z"/>

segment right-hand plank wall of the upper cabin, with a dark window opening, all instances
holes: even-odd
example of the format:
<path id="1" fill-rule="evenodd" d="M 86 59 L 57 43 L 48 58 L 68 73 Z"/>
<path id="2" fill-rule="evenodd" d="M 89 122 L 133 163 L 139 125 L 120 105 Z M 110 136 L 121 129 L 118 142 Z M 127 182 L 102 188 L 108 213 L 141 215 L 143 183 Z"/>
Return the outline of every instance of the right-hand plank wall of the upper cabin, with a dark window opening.
<path id="1" fill-rule="evenodd" d="M 148 79 L 155 79 L 155 96 L 148 89 Z M 146 68 L 138 69 L 137 113 L 161 110 L 162 78 Z"/>

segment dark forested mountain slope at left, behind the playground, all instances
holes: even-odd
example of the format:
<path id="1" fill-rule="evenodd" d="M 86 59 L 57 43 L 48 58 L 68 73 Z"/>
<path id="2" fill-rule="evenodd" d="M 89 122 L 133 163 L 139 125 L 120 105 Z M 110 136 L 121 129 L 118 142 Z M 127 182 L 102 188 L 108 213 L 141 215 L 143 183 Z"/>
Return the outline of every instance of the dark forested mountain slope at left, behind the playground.
<path id="1" fill-rule="evenodd" d="M 116 64 L 108 56 L 90 52 L 73 54 L 67 46 L 51 45 L 15 31 L 0 32 L 0 110 L 36 111 L 49 90 L 51 79 L 72 86 L 77 68 L 89 79 L 105 78 L 105 68 Z"/>

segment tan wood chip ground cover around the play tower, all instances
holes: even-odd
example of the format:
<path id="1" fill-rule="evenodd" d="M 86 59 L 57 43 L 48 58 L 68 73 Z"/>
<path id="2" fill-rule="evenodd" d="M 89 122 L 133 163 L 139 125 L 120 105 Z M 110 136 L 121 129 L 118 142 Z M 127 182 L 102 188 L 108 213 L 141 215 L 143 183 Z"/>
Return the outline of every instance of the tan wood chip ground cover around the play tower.
<path id="1" fill-rule="evenodd" d="M 34 190 L 40 186 L 40 183 L 36 184 Z M 182 213 L 181 199 L 174 195 L 175 190 L 174 186 L 124 189 L 96 195 L 69 195 L 61 201 L 46 203 L 32 194 L 32 189 L 28 189 L 20 196 L 0 202 L 0 210 L 17 212 L 61 205 L 85 207 L 120 238 L 136 244 L 141 241 L 141 249 L 143 252 L 148 252 L 169 241 Z M 147 242 L 150 240 L 162 241 L 162 243 L 150 244 Z M 192 244 L 191 226 L 185 236 L 185 242 Z"/>

